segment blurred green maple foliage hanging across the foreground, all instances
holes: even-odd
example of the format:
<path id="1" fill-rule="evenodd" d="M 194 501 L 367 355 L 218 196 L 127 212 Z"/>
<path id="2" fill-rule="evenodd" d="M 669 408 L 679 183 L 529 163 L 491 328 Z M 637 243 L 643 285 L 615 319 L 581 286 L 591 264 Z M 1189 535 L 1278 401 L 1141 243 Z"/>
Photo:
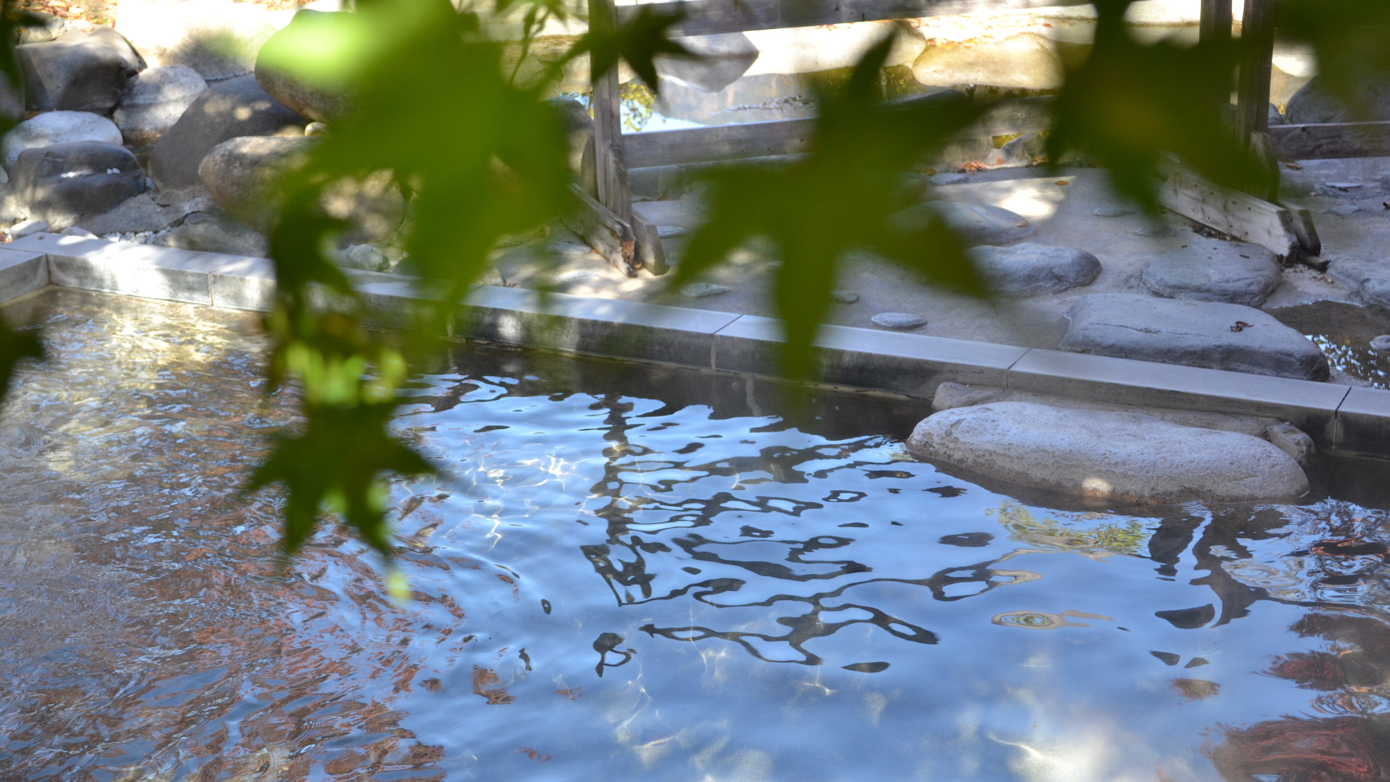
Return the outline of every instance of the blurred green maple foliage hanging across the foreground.
<path id="1" fill-rule="evenodd" d="M 1118 190 L 1150 210 L 1158 165 L 1176 154 L 1208 178 L 1250 186 L 1266 176 L 1261 161 L 1223 129 L 1218 100 L 1227 94 L 1238 44 L 1204 42 L 1182 49 L 1143 46 L 1125 31 L 1130 0 L 1098 0 L 1090 58 L 1068 75 L 1055 103 L 1049 157 L 1081 153 L 1105 167 Z M 277 300 L 267 315 L 274 339 L 270 388 L 302 392 L 306 425 L 284 436 L 256 471 L 250 489 L 288 488 L 286 551 L 328 510 L 389 556 L 384 479 L 431 467 L 391 433 L 400 354 L 363 328 L 363 301 L 325 249 L 345 225 L 318 208 L 334 182 L 392 171 L 411 203 L 411 271 L 431 279 L 434 304 L 421 324 L 438 328 L 509 233 L 534 229 L 569 206 L 570 174 L 557 118 L 542 103 L 560 64 L 534 83 L 517 83 L 502 44 L 484 21 L 523 17 L 523 50 L 546 18 L 566 15 L 559 0 L 498 0 L 456 10 L 448 0 L 359 0 L 354 14 L 296 21 L 297 54 L 279 65 L 306 81 L 352 85 L 354 119 L 335 125 L 306 167 L 282 183 L 271 233 Z M 1357 96 L 1357 85 L 1390 69 L 1386 3 L 1287 0 L 1286 32 L 1311 42 L 1329 86 Z M 626 60 L 656 89 L 653 57 L 678 56 L 667 39 L 676 21 L 642 13 L 620 29 L 594 25 L 569 58 L 589 53 L 598 72 Z M 18 83 L 10 13 L 0 21 L 0 68 Z M 1350 46 L 1343 46 L 1351 42 Z M 895 217 L 901 172 L 976 119 L 966 101 L 887 106 L 876 82 L 890 42 L 873 47 L 847 89 L 823 96 L 810 153 L 778 171 L 727 168 L 710 176 L 708 224 L 691 240 L 674 283 L 721 263 L 751 240 L 784 261 L 774 304 L 787 325 L 784 369 L 813 376 L 812 340 L 848 257 L 872 253 L 920 279 L 980 293 L 962 244 L 927 215 Z M 321 293 L 327 290 L 328 293 Z M 325 306 L 327 304 L 327 306 Z M 0 390 L 19 357 L 39 344 L 0 324 Z"/>

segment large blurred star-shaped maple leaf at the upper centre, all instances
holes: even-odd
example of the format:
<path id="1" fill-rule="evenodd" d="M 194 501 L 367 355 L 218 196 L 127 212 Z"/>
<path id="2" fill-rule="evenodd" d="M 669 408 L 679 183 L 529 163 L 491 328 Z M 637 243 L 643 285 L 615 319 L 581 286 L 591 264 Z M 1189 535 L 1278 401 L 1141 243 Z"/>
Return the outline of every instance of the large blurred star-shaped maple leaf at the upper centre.
<path id="1" fill-rule="evenodd" d="M 708 221 L 691 236 L 671 285 L 684 285 L 753 238 L 771 240 L 783 267 L 773 303 L 785 324 L 784 371 L 810 376 L 812 349 L 830 308 L 838 264 L 860 250 L 967 293 L 984 286 L 955 235 L 930 211 L 906 225 L 902 172 L 967 126 L 980 108 L 960 100 L 885 104 L 877 86 L 892 40 L 869 50 L 844 94 L 827 94 L 809 154 L 783 169 L 730 167 L 710 175 Z M 954 94 L 954 93 L 952 93 Z"/>

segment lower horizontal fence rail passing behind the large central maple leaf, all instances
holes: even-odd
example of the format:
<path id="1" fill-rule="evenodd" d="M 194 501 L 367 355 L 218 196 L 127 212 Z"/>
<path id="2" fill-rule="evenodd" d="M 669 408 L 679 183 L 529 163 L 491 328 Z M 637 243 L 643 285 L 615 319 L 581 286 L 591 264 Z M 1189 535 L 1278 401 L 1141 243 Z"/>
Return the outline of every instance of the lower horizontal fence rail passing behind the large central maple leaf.
<path id="1" fill-rule="evenodd" d="M 980 122 L 956 135 L 979 139 L 1045 131 L 1052 124 L 1052 97 L 1001 101 Z M 773 119 L 741 125 L 710 125 L 684 131 L 652 131 L 623 136 L 624 160 L 631 168 L 795 154 L 810 149 L 815 118 Z"/>

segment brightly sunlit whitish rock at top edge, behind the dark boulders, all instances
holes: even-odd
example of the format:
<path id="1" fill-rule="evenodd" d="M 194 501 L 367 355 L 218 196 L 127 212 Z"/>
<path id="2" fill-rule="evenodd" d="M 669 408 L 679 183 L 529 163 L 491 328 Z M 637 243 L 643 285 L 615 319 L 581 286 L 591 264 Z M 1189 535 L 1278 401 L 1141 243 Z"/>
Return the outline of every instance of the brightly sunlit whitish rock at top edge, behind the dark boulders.
<path id="1" fill-rule="evenodd" d="M 115 29 L 150 65 L 228 79 L 250 74 L 261 44 L 293 15 L 235 0 L 121 0 Z"/>

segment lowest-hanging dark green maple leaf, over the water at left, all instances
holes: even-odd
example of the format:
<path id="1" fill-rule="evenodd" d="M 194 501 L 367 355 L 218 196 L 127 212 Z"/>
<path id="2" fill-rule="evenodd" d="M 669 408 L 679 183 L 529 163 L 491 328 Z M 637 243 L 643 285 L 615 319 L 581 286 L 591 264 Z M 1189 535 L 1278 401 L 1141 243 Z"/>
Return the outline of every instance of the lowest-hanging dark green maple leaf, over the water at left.
<path id="1" fill-rule="evenodd" d="M 286 554 L 293 554 L 318 526 L 318 514 L 336 506 L 349 526 L 385 556 L 391 556 L 384 497 L 384 472 L 425 475 L 434 468 L 386 431 L 395 403 L 354 407 L 309 407 L 300 436 L 277 443 L 246 486 L 254 492 L 271 483 L 289 490 L 285 507 Z"/>

